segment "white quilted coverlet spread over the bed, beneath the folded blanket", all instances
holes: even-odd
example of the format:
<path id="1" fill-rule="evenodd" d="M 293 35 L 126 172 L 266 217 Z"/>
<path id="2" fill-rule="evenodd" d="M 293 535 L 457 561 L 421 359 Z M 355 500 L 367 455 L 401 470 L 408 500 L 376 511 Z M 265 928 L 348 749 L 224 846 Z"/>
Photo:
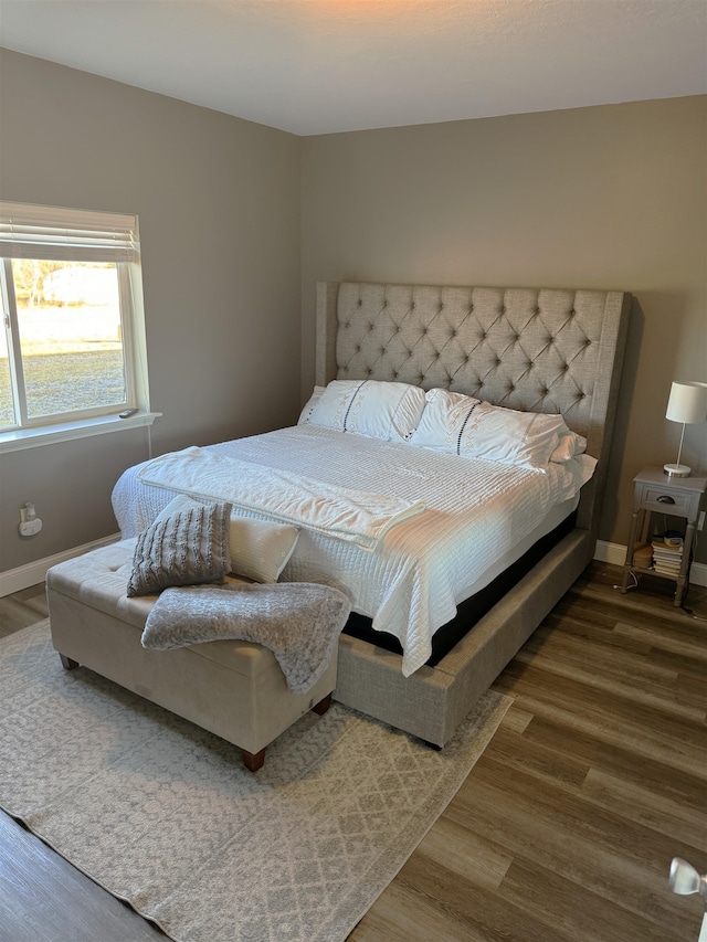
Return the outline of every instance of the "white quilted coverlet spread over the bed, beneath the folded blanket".
<path id="1" fill-rule="evenodd" d="M 434 632 L 456 614 L 469 588 L 482 588 L 506 558 L 536 532 L 551 527 L 552 508 L 569 512 L 591 476 L 588 456 L 550 464 L 547 472 L 440 454 L 299 425 L 211 445 L 214 455 L 320 479 L 327 485 L 394 497 L 425 509 L 397 523 L 374 551 L 303 528 L 281 581 L 320 582 L 341 589 L 352 608 L 389 632 L 403 649 L 402 671 L 430 657 Z M 147 527 L 173 491 L 144 485 L 138 468 L 117 483 L 113 504 L 125 538 Z M 244 517 L 266 512 L 242 508 Z M 484 581 L 484 574 L 492 574 Z"/>

